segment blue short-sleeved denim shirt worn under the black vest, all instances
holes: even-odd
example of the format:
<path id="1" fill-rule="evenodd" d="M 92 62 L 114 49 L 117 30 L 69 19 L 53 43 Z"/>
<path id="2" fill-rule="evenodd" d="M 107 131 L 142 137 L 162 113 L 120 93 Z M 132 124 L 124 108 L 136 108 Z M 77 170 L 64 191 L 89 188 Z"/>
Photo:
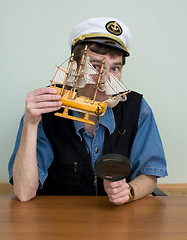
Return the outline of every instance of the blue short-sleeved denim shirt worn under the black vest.
<path id="1" fill-rule="evenodd" d="M 77 112 L 74 112 L 73 114 L 74 116 L 78 117 Z M 105 129 L 107 128 L 110 134 L 112 134 L 115 130 L 115 119 L 113 111 L 111 108 L 107 108 L 105 115 L 99 118 L 94 136 L 85 130 L 83 123 L 74 121 L 74 126 L 77 135 L 80 137 L 80 140 L 85 142 L 91 159 L 92 167 L 94 168 L 96 159 L 102 155 Z M 12 168 L 17 150 L 19 148 L 22 127 L 23 117 L 20 122 L 14 151 L 10 158 L 8 166 L 9 181 L 12 184 Z M 42 188 L 42 185 L 48 176 L 48 168 L 50 167 L 53 158 L 53 149 L 50 141 L 45 136 L 41 121 L 38 126 L 37 137 L 37 161 L 40 181 L 39 188 Z M 141 174 L 155 175 L 157 177 L 167 176 L 166 159 L 158 128 L 152 110 L 144 98 L 142 98 L 141 102 L 138 130 L 132 145 L 129 159 L 132 163 L 133 170 L 131 179 Z"/>

